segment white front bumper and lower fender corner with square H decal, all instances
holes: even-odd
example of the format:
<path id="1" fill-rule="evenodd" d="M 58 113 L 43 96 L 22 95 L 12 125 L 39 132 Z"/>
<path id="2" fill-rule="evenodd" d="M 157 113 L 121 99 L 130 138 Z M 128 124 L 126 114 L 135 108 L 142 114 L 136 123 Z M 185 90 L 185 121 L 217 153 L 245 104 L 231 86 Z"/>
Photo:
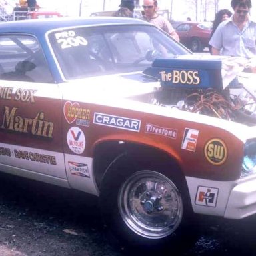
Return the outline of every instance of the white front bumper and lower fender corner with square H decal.
<path id="1" fill-rule="evenodd" d="M 194 213 L 227 219 L 243 219 L 256 213 L 256 175 L 235 181 L 186 180 Z"/>

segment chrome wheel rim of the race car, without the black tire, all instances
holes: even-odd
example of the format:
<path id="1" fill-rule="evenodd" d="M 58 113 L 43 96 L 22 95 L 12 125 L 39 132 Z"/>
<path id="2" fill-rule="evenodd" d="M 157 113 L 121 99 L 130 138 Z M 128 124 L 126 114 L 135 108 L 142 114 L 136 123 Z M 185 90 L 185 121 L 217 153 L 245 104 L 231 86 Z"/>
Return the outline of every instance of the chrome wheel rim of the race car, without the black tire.
<path id="1" fill-rule="evenodd" d="M 129 229 L 148 239 L 171 235 L 183 217 L 177 187 L 155 171 L 138 171 L 131 175 L 119 189 L 118 208 Z"/>

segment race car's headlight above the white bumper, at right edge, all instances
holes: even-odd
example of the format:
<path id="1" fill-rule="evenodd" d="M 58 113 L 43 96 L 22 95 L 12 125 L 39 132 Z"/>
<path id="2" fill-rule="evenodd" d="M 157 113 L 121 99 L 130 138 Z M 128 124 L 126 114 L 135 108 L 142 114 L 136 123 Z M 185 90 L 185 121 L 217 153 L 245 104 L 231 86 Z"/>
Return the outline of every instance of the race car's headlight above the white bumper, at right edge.
<path id="1" fill-rule="evenodd" d="M 241 177 L 256 173 L 256 141 L 247 141 L 243 150 Z"/>

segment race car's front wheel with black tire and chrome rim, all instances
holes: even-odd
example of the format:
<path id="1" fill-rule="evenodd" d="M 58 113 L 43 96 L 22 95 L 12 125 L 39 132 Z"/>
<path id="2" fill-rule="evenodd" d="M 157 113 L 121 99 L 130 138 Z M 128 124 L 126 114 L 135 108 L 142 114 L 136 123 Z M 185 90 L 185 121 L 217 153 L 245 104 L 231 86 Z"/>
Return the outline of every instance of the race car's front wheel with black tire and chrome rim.
<path id="1" fill-rule="evenodd" d="M 105 175 L 100 194 L 103 219 L 120 247 L 158 253 L 167 245 L 179 251 L 190 247 L 198 227 L 188 229 L 193 213 L 179 178 L 167 177 L 147 164 L 132 167 L 127 163 L 134 161 L 121 162 Z"/>

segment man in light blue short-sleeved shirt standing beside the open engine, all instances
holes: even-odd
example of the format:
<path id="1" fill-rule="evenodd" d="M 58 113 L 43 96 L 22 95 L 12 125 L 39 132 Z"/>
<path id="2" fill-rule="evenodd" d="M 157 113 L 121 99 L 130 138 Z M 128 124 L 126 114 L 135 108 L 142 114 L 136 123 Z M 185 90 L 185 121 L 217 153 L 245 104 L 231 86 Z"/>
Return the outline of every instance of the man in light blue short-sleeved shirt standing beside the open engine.
<path id="1" fill-rule="evenodd" d="M 221 23 L 209 41 L 213 55 L 256 56 L 256 23 L 251 21 L 251 0 L 232 0 L 234 14 Z"/>

